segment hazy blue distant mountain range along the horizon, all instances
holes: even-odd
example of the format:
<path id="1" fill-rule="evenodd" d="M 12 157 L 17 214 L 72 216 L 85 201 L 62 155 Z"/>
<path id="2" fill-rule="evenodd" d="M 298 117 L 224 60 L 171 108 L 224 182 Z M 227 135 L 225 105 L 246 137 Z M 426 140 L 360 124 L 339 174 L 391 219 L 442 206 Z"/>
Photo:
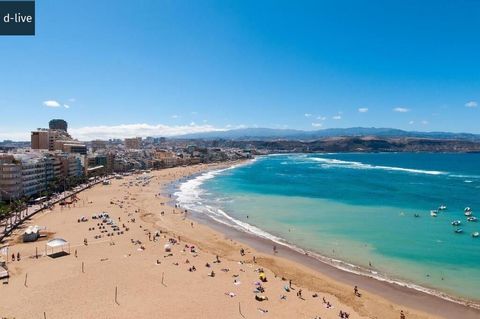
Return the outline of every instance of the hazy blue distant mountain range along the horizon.
<path id="1" fill-rule="evenodd" d="M 444 140 L 480 141 L 480 134 L 451 133 L 451 132 L 416 132 L 393 128 L 351 127 L 330 128 L 316 131 L 302 131 L 291 129 L 271 128 L 244 128 L 228 131 L 214 131 L 205 133 L 185 134 L 177 139 L 226 139 L 226 140 L 301 140 L 312 141 L 329 137 L 365 137 L 381 138 L 426 138 Z"/>

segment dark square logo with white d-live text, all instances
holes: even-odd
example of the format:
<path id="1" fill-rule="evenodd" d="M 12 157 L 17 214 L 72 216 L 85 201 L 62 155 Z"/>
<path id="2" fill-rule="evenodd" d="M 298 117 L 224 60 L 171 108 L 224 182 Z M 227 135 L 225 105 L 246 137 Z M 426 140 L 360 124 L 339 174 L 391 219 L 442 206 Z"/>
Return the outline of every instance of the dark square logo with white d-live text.
<path id="1" fill-rule="evenodd" d="M 0 0 L 0 35 L 35 35 L 35 1 Z"/>

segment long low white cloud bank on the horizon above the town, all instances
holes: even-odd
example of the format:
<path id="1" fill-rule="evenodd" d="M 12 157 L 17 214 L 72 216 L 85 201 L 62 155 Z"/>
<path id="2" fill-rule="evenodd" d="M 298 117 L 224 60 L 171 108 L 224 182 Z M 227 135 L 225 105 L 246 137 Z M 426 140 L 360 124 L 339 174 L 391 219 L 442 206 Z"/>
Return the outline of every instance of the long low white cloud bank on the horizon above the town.
<path id="1" fill-rule="evenodd" d="M 80 128 L 69 129 L 69 133 L 74 138 L 83 141 L 94 139 L 110 139 L 110 138 L 125 138 L 125 137 L 147 137 L 147 136 L 175 136 L 190 133 L 202 133 L 211 131 L 225 131 L 222 128 L 216 128 L 211 125 L 175 125 L 168 126 L 163 124 L 120 124 L 120 125 L 101 125 L 101 126 L 86 126 Z"/>

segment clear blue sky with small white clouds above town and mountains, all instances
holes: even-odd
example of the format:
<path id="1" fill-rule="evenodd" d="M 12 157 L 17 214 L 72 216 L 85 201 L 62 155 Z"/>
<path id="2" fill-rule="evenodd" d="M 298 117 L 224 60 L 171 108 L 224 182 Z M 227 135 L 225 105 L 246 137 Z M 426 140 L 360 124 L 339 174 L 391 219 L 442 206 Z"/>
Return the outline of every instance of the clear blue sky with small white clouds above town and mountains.
<path id="1" fill-rule="evenodd" d="M 480 133 L 480 1 L 385 2 L 37 1 L 35 37 L 0 37 L 0 139 Z"/>

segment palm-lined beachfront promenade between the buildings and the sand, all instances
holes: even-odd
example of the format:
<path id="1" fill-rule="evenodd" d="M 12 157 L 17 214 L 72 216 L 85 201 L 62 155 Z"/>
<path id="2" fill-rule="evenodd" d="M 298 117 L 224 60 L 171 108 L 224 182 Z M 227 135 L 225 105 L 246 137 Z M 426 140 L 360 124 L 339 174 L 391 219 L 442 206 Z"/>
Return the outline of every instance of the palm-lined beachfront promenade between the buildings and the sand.
<path id="1" fill-rule="evenodd" d="M 64 191 L 60 195 L 57 195 L 53 198 L 51 198 L 49 201 L 37 204 L 37 205 L 28 205 L 26 209 L 17 212 L 17 214 L 14 214 L 15 217 L 6 217 L 2 221 L 0 221 L 0 242 L 8 236 L 13 230 L 15 230 L 17 227 L 22 225 L 26 220 L 34 216 L 35 214 L 43 211 L 44 209 L 48 209 L 52 205 L 55 205 L 61 201 L 64 201 L 68 199 L 69 197 L 76 195 L 86 189 L 89 189 L 90 187 L 97 185 L 101 182 L 103 182 L 105 179 L 109 180 L 112 179 L 114 176 L 108 176 L 106 178 L 99 178 L 94 181 L 90 181 L 88 183 L 78 185 L 74 189 L 69 190 L 69 191 Z M 13 219 L 15 218 L 15 219 Z"/>

